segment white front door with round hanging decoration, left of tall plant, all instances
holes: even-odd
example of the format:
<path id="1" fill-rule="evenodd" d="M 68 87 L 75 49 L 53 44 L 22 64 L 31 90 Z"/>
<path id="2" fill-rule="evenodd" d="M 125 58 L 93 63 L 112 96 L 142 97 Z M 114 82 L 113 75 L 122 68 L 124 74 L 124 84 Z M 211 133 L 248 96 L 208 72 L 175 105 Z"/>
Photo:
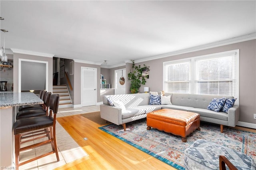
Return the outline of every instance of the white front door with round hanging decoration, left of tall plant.
<path id="1" fill-rule="evenodd" d="M 124 79 L 124 81 L 120 81 Z M 115 70 L 115 95 L 126 93 L 126 71 L 125 69 Z"/>

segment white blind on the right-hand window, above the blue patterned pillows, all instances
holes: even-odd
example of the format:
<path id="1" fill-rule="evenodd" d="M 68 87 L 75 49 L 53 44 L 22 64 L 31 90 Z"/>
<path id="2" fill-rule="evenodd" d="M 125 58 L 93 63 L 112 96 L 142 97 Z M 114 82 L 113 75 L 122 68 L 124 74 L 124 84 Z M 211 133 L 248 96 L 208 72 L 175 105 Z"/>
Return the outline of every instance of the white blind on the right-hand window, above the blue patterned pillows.
<path id="1" fill-rule="evenodd" d="M 198 59 L 195 87 L 197 94 L 236 97 L 236 57 Z"/>

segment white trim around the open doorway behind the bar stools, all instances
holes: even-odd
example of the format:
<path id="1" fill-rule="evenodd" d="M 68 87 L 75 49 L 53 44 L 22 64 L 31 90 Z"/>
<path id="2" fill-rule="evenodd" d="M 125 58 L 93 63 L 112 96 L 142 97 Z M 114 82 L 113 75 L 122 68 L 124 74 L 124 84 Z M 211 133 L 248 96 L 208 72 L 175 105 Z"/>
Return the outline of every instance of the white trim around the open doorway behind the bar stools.
<path id="1" fill-rule="evenodd" d="M 18 92 L 21 92 L 21 61 L 34 62 L 34 63 L 45 63 L 46 64 L 45 90 L 48 91 L 48 71 L 49 71 L 48 70 L 48 61 L 40 61 L 40 60 L 19 58 L 19 63 L 18 63 Z"/>

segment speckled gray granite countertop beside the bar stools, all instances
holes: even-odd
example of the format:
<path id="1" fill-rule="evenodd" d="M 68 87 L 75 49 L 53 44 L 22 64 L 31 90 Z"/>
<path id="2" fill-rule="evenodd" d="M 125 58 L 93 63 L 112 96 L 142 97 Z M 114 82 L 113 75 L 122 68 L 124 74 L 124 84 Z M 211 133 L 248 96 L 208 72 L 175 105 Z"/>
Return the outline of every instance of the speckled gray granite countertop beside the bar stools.
<path id="1" fill-rule="evenodd" d="M 0 93 L 0 108 L 23 105 L 38 105 L 43 103 L 44 101 L 42 101 L 32 92 Z"/>

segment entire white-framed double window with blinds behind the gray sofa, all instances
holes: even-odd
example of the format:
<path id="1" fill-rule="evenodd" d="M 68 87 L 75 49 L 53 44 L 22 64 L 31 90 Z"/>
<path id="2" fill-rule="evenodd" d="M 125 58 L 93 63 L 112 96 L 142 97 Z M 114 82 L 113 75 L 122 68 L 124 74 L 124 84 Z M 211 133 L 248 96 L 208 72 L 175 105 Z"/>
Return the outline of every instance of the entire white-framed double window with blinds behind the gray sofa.
<path id="1" fill-rule="evenodd" d="M 239 95 L 239 50 L 164 62 L 164 91 Z"/>

